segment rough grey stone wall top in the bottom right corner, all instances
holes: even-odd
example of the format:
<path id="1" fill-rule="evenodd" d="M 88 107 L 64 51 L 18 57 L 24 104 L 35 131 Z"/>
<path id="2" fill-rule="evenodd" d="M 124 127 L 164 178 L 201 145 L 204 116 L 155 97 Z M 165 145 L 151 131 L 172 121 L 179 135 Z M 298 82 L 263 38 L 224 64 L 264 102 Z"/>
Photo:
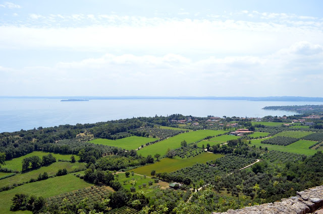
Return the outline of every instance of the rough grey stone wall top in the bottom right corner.
<path id="1" fill-rule="evenodd" d="M 212 214 L 323 213 L 323 209 L 317 211 L 321 207 L 323 207 L 323 185 L 297 192 L 297 196 L 283 198 L 280 202 L 247 206 L 236 210 L 229 209 L 226 212 L 212 212 Z"/>

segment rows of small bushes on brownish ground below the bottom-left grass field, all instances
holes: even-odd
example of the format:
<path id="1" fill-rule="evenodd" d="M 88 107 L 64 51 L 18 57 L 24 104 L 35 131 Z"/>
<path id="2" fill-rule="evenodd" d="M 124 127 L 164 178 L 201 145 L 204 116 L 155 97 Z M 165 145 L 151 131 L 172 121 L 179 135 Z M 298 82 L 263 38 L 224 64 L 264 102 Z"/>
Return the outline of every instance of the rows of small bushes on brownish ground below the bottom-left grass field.
<path id="1" fill-rule="evenodd" d="M 79 203 L 82 199 L 88 198 L 88 206 L 93 208 L 94 202 L 102 201 L 110 192 L 111 191 L 104 186 L 91 186 L 88 188 L 78 189 L 76 191 L 49 197 L 47 198 L 47 204 L 61 205 L 64 198 L 67 198 L 68 202 L 70 203 Z"/>

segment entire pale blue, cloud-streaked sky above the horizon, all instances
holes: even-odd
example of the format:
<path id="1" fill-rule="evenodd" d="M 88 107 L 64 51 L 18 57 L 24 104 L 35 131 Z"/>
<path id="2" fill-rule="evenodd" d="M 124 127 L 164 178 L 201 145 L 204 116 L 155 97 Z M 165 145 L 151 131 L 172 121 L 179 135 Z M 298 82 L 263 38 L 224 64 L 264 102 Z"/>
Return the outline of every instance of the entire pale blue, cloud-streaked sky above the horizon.
<path id="1" fill-rule="evenodd" d="M 0 0 L 0 96 L 323 97 L 323 1 Z"/>

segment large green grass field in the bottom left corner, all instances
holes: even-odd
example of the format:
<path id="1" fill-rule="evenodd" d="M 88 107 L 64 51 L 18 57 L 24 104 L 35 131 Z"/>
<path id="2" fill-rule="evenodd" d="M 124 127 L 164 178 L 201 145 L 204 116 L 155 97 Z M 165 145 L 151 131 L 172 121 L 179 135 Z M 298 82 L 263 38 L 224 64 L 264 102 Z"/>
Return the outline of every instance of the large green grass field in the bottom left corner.
<path id="1" fill-rule="evenodd" d="M 73 191 L 76 189 L 91 186 L 85 181 L 72 174 L 59 176 L 55 178 L 48 178 L 47 180 L 37 181 L 33 183 L 24 184 L 14 189 L 0 192 L 0 210 L 1 213 L 31 213 L 29 211 L 10 211 L 12 198 L 17 193 L 25 193 L 29 195 L 43 196 L 44 198 Z"/>

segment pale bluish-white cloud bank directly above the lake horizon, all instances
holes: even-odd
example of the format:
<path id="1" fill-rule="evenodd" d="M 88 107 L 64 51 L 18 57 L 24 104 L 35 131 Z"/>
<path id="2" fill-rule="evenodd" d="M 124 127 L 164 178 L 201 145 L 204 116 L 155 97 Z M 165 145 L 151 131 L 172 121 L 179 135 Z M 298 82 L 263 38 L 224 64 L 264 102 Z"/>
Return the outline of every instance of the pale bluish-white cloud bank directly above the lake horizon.
<path id="1" fill-rule="evenodd" d="M 9 77 L 0 80 L 0 91 L 9 85 L 15 91 L 23 85 L 26 94 L 41 87 L 50 95 L 212 96 L 219 92 L 219 96 L 308 96 L 310 92 L 311 96 L 321 96 L 323 53 L 304 58 L 297 52 L 303 47 L 316 50 L 320 46 L 299 42 L 264 56 L 209 56 L 199 60 L 179 54 L 104 54 L 53 67 L 11 69 L 6 73 Z M 0 67 L 2 75 L 4 70 L 8 71 Z"/>

